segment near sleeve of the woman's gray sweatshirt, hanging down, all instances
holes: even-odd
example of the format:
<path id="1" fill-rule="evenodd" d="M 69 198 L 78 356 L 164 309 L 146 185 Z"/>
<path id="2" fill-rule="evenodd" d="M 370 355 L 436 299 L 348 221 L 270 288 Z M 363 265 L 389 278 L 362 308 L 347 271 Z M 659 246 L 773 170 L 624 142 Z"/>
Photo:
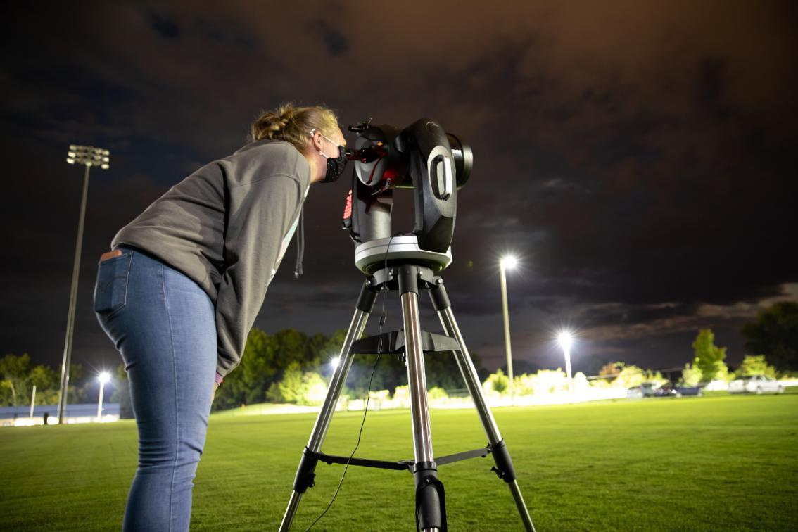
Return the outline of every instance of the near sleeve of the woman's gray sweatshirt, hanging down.
<path id="1" fill-rule="evenodd" d="M 216 298 L 216 371 L 221 376 L 241 361 L 247 335 L 296 227 L 302 199 L 298 179 L 289 175 L 272 175 L 230 191 L 227 267 Z"/>

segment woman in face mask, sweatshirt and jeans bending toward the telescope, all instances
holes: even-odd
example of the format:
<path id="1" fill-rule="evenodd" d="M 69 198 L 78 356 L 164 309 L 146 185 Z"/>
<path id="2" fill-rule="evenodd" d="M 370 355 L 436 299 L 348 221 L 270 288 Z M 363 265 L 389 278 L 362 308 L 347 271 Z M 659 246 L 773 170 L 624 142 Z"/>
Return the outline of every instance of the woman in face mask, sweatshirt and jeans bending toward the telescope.
<path id="1" fill-rule="evenodd" d="M 310 184 L 346 165 L 327 108 L 283 105 L 251 135 L 147 207 L 101 257 L 94 310 L 124 360 L 139 432 L 124 530 L 188 530 L 213 394 L 239 364 Z"/>

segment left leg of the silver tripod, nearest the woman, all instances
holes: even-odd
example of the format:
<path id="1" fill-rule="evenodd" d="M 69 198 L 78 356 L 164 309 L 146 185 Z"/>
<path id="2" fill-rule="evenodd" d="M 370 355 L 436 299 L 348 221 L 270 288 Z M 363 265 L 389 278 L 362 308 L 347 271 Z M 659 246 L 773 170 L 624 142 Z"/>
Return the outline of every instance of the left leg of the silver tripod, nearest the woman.
<path id="1" fill-rule="evenodd" d="M 322 449 L 322 443 L 324 443 L 327 435 L 327 429 L 330 428 L 335 406 L 338 404 L 338 397 L 341 396 L 346 376 L 352 367 L 352 359 L 354 358 L 354 354 L 350 353 L 352 343 L 363 336 L 363 330 L 376 297 L 377 292 L 370 288 L 368 281 L 364 282 L 358 298 L 357 309 L 355 309 L 352 317 L 350 328 L 346 332 L 346 339 L 344 340 L 344 345 L 342 345 L 341 353 L 338 355 L 338 366 L 336 366 L 333 378 L 330 380 L 324 404 L 322 404 L 321 411 L 318 412 L 316 423 L 310 433 L 310 439 L 308 439 L 302 459 L 299 460 L 299 467 L 294 478 L 294 491 L 291 493 L 286 513 L 282 516 L 280 532 L 287 532 L 290 529 L 291 522 L 294 521 L 294 515 L 296 515 L 299 507 L 299 501 L 302 499 L 302 494 L 305 493 L 307 488 L 313 487 L 314 471 L 318 459 L 308 455 L 307 451 L 318 452 Z"/>

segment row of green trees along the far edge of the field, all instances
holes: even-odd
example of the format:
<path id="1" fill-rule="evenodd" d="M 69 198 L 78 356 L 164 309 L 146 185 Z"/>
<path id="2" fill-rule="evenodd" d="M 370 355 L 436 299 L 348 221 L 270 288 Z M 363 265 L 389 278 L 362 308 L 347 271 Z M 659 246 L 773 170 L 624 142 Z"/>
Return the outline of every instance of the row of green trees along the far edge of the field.
<path id="1" fill-rule="evenodd" d="M 733 375 L 776 376 L 798 372 L 798 302 L 784 301 L 762 310 L 756 321 L 746 324 L 742 331 L 746 354 L 737 371 L 732 373 L 726 364 L 726 349 L 715 345 L 711 329 L 701 329 L 693 342 L 693 360 L 682 370 L 685 384 L 729 380 Z M 225 377 L 216 392 L 213 408 L 220 410 L 241 404 L 286 402 L 316 404 L 326 390 L 346 330 L 330 336 L 308 335 L 296 329 L 282 329 L 266 333 L 252 329 L 247 337 L 239 368 Z M 481 367 L 480 357 L 471 353 L 480 380 L 488 380 L 489 372 Z M 357 355 L 347 379 L 343 396 L 361 398 L 369 386 L 369 377 L 377 361 L 376 355 Z M 449 353 L 425 357 L 428 388 L 442 388 L 448 392 L 464 387 L 460 370 Z M 621 362 L 604 365 L 600 374 L 637 374 L 640 368 Z M 654 372 L 648 372 L 654 378 Z M 646 373 L 646 374 L 648 374 Z M 60 371 L 47 365 L 34 365 L 28 354 L 7 354 L 0 359 L 0 406 L 30 404 L 36 386 L 36 404 L 57 404 Z M 498 379 L 498 380 L 497 380 Z M 406 384 L 406 370 L 401 357 L 383 354 L 373 373 L 372 390 L 393 390 Z M 500 377 L 493 377 L 494 387 L 500 387 Z M 97 379 L 86 375 L 81 365 L 69 368 L 69 403 L 97 400 Z M 119 365 L 113 380 L 109 402 L 120 403 L 123 417 L 131 417 L 130 394 L 124 365 Z"/>

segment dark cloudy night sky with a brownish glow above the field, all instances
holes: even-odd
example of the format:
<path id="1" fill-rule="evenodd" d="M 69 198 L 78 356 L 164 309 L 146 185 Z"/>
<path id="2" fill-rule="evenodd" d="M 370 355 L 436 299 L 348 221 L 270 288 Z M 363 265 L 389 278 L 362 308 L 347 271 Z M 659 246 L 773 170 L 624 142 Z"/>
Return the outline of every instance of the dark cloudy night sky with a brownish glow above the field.
<path id="1" fill-rule="evenodd" d="M 741 324 L 798 298 L 795 2 L 3 11 L 0 355 L 61 364 L 83 174 L 65 162 L 69 144 L 111 152 L 89 185 L 73 362 L 115 367 L 92 311 L 99 255 L 285 101 L 326 104 L 342 126 L 429 116 L 471 144 L 444 278 L 488 368 L 504 359 L 498 262 L 508 252 L 521 261 L 508 274 L 518 368 L 562 366 L 551 339 L 563 326 L 579 334 L 577 369 L 591 356 L 683 366 L 705 327 L 734 365 Z M 292 245 L 257 327 L 349 324 L 363 277 L 340 229 L 347 180 L 311 188 L 305 275 L 293 278 Z M 411 196 L 395 198 L 393 231 L 409 231 Z M 421 301 L 422 325 L 438 331 Z M 398 328 L 397 300 L 385 310 Z"/>

